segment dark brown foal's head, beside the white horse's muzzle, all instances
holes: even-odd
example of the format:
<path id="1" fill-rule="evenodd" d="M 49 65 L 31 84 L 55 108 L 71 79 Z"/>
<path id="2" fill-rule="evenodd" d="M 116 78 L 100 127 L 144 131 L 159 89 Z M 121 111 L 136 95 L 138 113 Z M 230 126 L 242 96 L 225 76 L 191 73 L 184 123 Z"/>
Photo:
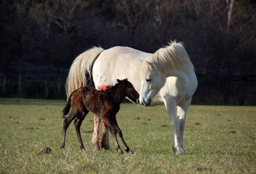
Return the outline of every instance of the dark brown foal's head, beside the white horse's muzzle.
<path id="1" fill-rule="evenodd" d="M 127 98 L 129 98 L 134 103 L 137 103 L 137 104 L 140 103 L 140 101 L 139 101 L 140 95 L 135 90 L 135 88 L 133 87 L 131 82 L 129 82 L 127 79 L 124 79 L 124 80 L 117 79 L 117 82 L 124 84 L 125 89 L 123 92 Z"/>

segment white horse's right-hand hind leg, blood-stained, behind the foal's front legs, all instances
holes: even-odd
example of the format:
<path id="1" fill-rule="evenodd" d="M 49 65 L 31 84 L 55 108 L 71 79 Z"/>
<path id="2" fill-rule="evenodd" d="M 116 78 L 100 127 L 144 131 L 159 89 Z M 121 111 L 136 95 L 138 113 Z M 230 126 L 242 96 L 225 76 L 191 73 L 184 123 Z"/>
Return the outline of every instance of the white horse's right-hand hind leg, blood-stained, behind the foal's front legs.
<path id="1" fill-rule="evenodd" d="M 105 120 L 102 120 L 102 131 L 100 134 L 100 148 L 104 148 L 105 150 L 112 151 L 109 146 L 109 128 L 105 123 Z"/>

